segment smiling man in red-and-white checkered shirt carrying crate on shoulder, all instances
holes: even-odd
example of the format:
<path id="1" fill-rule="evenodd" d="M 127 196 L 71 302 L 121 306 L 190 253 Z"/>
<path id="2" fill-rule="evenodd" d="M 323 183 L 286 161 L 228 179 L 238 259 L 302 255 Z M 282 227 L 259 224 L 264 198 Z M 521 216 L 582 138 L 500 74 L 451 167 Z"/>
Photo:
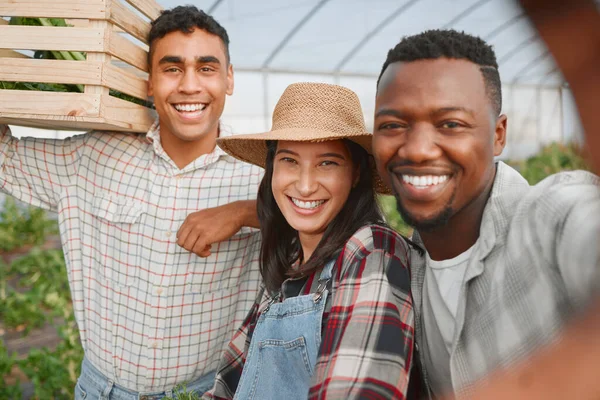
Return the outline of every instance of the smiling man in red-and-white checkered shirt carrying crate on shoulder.
<path id="1" fill-rule="evenodd" d="M 177 7 L 149 43 L 159 121 L 147 134 L 17 140 L 0 126 L 0 189 L 58 212 L 93 371 L 76 398 L 159 398 L 182 382 L 202 393 L 260 283 L 259 236 L 240 228 L 257 225 L 263 172 L 215 147 L 233 91 L 227 33 Z"/>

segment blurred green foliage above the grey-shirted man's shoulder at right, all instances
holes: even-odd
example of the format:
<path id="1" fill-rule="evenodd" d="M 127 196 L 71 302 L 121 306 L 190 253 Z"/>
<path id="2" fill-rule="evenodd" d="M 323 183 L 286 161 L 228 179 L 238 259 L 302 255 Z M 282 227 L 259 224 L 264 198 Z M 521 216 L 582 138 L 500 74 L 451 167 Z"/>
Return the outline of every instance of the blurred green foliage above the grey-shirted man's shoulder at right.
<path id="1" fill-rule="evenodd" d="M 584 160 L 582 149 L 575 143 L 551 143 L 524 161 L 508 163 L 519 170 L 531 185 L 560 171 L 591 169 Z"/>

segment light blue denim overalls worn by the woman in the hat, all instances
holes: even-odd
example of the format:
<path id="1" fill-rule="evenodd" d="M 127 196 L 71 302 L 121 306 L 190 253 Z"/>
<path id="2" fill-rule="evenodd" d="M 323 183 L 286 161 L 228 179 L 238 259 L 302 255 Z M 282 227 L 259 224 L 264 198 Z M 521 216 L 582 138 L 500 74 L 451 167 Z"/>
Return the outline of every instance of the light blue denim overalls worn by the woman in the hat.
<path id="1" fill-rule="evenodd" d="M 306 400 L 334 263 L 321 271 L 315 293 L 281 303 L 275 303 L 279 296 L 274 296 L 261 313 L 234 400 Z"/>

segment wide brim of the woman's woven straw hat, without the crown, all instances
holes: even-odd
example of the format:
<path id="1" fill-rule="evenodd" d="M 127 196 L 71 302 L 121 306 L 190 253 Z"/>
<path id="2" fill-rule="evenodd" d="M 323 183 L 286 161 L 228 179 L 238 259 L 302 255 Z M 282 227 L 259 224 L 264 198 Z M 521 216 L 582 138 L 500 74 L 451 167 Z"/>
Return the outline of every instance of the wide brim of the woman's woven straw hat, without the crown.
<path id="1" fill-rule="evenodd" d="M 279 129 L 264 133 L 253 133 L 246 135 L 234 135 L 217 139 L 217 145 L 227 154 L 250 164 L 265 168 L 267 159 L 267 140 L 285 140 L 293 142 L 325 142 L 329 140 L 348 139 L 360 145 L 370 155 L 372 151 L 373 135 L 364 132 L 351 135 L 341 135 L 331 131 L 319 131 L 311 129 L 290 128 Z M 373 159 L 369 161 L 373 173 L 373 184 L 377 193 L 392 194 L 392 191 L 383 183 L 377 173 Z"/>

